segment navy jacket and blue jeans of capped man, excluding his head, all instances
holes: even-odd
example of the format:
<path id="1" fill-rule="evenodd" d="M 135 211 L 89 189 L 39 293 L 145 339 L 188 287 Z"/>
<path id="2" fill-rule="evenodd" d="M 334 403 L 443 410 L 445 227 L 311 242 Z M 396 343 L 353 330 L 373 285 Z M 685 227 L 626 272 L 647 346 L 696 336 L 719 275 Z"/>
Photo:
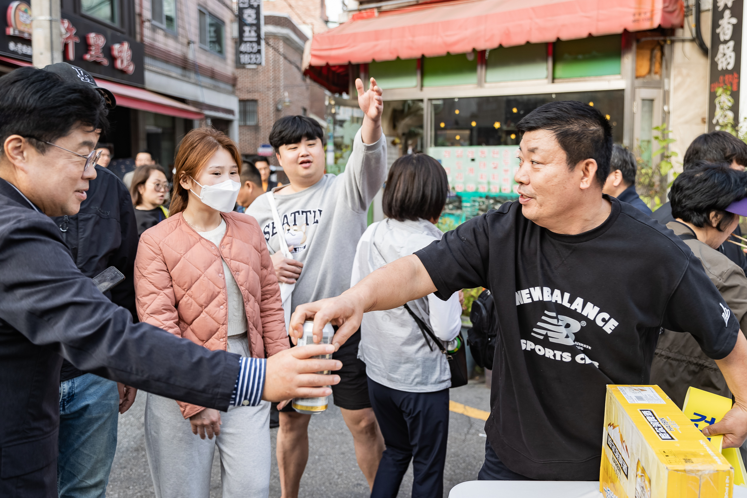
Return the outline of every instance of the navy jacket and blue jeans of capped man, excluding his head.
<path id="1" fill-rule="evenodd" d="M 102 144 L 97 146 L 97 152 Z M 107 149 L 103 148 L 104 153 Z M 103 157 L 103 155 L 102 155 Z M 137 222 L 127 187 L 117 175 L 96 164 L 86 200 L 74 216 L 52 218 L 72 253 L 75 266 L 93 278 L 115 267 L 125 279 L 104 293 L 116 305 L 135 311 L 134 260 Z M 60 372 L 60 498 L 102 497 L 117 450 L 117 420 L 137 389 L 86 373 L 63 361 Z M 95 461 L 90 461 L 91 459 Z"/>

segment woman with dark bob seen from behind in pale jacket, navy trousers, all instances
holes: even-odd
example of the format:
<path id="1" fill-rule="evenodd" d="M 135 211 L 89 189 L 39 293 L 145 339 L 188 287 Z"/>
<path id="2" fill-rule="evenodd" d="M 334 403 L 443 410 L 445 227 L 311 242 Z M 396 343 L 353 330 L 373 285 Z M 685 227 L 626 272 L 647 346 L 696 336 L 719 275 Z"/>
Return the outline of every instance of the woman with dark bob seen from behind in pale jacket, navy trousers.
<path id="1" fill-rule="evenodd" d="M 436 222 L 449 183 L 438 161 L 425 154 L 394 161 L 384 187 L 388 219 L 371 224 L 358 243 L 350 286 L 369 273 L 411 255 L 443 235 Z M 446 302 L 430 294 L 388 311 L 363 315 L 358 357 L 366 364 L 368 393 L 386 449 L 371 497 L 396 497 L 412 459 L 412 496 L 440 497 L 449 432 L 451 374 L 438 345 L 425 338 L 415 314 L 450 351 L 459 339 L 459 293 Z"/>

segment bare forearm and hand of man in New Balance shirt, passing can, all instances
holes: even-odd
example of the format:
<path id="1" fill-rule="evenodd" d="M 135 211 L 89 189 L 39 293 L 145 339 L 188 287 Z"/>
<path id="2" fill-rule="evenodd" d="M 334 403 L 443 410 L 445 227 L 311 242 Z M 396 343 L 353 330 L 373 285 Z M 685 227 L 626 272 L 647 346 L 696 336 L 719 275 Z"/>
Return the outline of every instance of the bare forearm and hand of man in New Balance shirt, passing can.
<path id="1" fill-rule="evenodd" d="M 358 330 L 366 311 L 390 310 L 433 292 L 436 285 L 420 258 L 405 256 L 374 271 L 340 296 L 297 306 L 289 332 L 296 342 L 303 335 L 304 320 L 313 319 L 314 342 L 318 343 L 323 326 L 332 322 L 340 326 L 332 337 L 337 349 Z"/>

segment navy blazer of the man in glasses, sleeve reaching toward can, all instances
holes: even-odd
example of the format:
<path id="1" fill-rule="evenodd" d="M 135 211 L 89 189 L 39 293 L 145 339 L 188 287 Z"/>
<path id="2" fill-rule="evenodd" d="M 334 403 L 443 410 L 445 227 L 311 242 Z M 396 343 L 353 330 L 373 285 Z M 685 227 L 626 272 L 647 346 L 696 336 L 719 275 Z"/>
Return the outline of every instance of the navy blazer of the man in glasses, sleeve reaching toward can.
<path id="1" fill-rule="evenodd" d="M 240 358 L 133 324 L 75 267 L 58 225 L 0 179 L 0 497 L 57 497 L 63 357 L 106 379 L 223 411 Z"/>

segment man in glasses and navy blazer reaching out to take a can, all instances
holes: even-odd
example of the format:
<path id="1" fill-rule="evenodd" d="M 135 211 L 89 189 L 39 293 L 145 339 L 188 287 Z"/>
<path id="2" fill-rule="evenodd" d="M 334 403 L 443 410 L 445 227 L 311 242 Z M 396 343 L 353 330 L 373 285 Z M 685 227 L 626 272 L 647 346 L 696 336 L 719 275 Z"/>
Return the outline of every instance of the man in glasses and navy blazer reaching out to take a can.
<path id="1" fill-rule="evenodd" d="M 81 85 L 81 82 L 84 85 Z M 102 95 L 103 93 L 103 95 Z M 80 68 L 23 67 L 0 78 L 0 497 L 58 496 L 59 379 L 84 372 L 226 410 L 260 399 L 326 396 L 334 346 L 264 358 L 210 351 L 107 299 L 75 266 L 50 217 L 78 213 L 96 178 L 105 100 Z M 214 428 L 219 429 L 220 428 Z"/>

